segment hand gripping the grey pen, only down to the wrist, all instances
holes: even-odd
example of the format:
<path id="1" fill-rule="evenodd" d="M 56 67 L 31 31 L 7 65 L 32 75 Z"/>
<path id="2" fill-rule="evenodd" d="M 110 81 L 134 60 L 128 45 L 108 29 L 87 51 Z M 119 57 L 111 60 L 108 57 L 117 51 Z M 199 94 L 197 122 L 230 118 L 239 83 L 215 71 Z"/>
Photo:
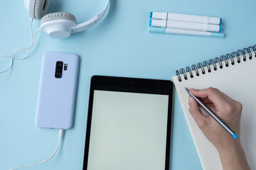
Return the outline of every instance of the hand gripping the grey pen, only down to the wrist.
<path id="1" fill-rule="evenodd" d="M 216 114 L 240 136 L 240 118 L 242 104 L 234 101 L 218 89 L 208 88 L 203 90 L 190 89 L 191 94 L 201 98 L 201 101 L 210 108 L 215 108 Z M 203 134 L 213 143 L 217 149 L 223 149 L 235 142 L 240 142 L 240 138 L 235 140 L 226 132 L 211 116 L 206 117 L 201 113 L 200 106 L 192 98 L 188 98 L 189 112 L 196 120 L 198 127 Z"/>

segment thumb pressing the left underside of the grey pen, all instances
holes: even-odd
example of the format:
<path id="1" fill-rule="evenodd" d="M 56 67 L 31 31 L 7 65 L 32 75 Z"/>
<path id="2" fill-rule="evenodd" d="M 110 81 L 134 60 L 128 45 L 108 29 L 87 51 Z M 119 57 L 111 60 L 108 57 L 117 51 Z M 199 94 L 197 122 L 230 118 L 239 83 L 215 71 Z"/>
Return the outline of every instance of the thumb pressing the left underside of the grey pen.
<path id="1" fill-rule="evenodd" d="M 207 123 L 208 118 L 201 112 L 198 103 L 191 96 L 188 97 L 189 112 L 191 113 L 193 119 L 199 128 L 204 128 Z"/>

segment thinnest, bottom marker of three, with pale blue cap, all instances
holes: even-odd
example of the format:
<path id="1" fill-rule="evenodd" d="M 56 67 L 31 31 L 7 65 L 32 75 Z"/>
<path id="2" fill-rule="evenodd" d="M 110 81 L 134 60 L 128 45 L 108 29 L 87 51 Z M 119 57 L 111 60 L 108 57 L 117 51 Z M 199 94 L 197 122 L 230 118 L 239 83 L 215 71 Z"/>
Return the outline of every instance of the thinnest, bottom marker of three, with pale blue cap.
<path id="1" fill-rule="evenodd" d="M 149 27 L 149 33 L 175 33 L 175 34 L 186 34 L 186 35 L 201 35 L 208 37 L 218 37 L 223 38 L 223 33 L 210 33 L 198 30 L 178 30 L 171 28 L 157 28 L 157 27 Z"/>

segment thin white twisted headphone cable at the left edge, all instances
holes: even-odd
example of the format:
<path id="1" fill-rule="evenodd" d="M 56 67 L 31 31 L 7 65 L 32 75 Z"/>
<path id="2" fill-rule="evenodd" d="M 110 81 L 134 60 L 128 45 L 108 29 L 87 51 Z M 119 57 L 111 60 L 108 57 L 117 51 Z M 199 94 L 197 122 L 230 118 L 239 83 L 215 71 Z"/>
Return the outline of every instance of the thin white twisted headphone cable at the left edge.
<path id="1" fill-rule="evenodd" d="M 14 64 L 14 59 L 15 59 L 15 60 L 23 60 L 23 59 L 26 59 L 26 57 L 28 57 L 29 52 L 31 52 L 31 48 L 33 47 L 33 45 L 34 45 L 35 42 L 36 42 L 36 34 L 37 34 L 38 31 L 40 30 L 40 29 L 36 30 L 35 39 L 34 39 L 33 29 L 32 29 L 32 23 L 33 23 L 33 18 L 31 18 L 31 37 L 32 37 L 31 46 L 30 46 L 30 47 L 26 47 L 26 48 L 18 48 L 18 49 L 12 50 L 11 55 L 2 55 L 2 56 L 0 57 L 0 59 L 3 58 L 3 57 L 9 57 L 9 58 L 11 58 L 11 64 L 10 64 L 10 66 L 8 67 L 8 69 L 6 69 L 6 70 L 4 70 L 4 71 L 1 71 L 0 74 L 1 74 L 1 73 L 4 73 L 4 72 L 7 72 L 9 69 L 11 69 L 12 65 Z M 19 51 L 19 50 L 28 50 L 28 52 L 26 53 L 26 55 L 25 55 L 24 57 L 21 57 L 21 58 L 14 57 L 14 52 Z"/>

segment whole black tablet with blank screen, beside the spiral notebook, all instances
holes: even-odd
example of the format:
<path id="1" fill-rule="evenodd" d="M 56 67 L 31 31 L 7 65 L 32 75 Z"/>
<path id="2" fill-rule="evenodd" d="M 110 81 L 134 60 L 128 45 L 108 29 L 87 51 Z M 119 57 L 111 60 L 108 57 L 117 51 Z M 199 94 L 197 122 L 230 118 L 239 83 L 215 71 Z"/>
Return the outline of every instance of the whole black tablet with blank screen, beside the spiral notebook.
<path id="1" fill-rule="evenodd" d="M 169 170 L 171 81 L 94 76 L 83 169 Z"/>

